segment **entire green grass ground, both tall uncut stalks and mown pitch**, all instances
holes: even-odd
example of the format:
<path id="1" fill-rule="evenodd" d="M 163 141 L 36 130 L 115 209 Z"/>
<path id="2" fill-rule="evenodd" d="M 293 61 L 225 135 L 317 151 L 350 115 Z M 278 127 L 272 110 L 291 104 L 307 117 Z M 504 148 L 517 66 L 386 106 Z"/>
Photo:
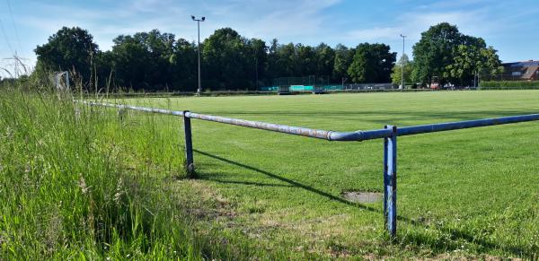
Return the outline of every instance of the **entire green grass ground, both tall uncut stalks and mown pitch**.
<path id="1" fill-rule="evenodd" d="M 399 137 L 398 231 L 383 141 L 328 142 L 0 95 L 0 259 L 327 259 L 539 255 L 539 122 Z M 539 91 L 109 100 L 337 131 L 537 113 Z"/>

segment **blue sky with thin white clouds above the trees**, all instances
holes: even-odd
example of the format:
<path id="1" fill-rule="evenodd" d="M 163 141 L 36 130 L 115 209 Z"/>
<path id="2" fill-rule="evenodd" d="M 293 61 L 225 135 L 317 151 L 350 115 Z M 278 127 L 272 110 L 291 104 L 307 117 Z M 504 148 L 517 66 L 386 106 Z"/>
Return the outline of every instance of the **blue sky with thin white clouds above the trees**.
<path id="1" fill-rule="evenodd" d="M 401 33 L 408 36 L 405 52 L 411 54 L 421 31 L 450 22 L 486 39 L 504 62 L 539 59 L 539 0 L 0 0 L 0 58 L 17 51 L 34 65 L 33 49 L 62 26 L 89 30 L 102 50 L 110 49 L 119 34 L 152 29 L 196 40 L 190 14 L 207 17 L 201 24 L 202 38 L 231 27 L 248 38 L 277 38 L 281 43 L 353 47 L 382 42 L 399 57 Z M 0 67 L 8 63 L 0 60 Z"/>

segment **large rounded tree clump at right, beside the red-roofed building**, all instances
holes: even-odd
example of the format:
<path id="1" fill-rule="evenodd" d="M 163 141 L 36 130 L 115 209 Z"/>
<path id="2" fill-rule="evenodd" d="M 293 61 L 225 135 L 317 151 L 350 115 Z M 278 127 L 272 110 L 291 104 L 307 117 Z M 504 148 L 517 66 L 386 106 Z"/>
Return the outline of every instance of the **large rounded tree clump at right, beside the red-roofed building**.
<path id="1" fill-rule="evenodd" d="M 413 61 L 402 56 L 391 75 L 397 84 L 401 83 L 403 69 L 406 83 L 471 86 L 474 78 L 503 72 L 497 53 L 484 39 L 465 35 L 455 25 L 442 22 L 421 33 L 420 41 L 413 46 Z"/>

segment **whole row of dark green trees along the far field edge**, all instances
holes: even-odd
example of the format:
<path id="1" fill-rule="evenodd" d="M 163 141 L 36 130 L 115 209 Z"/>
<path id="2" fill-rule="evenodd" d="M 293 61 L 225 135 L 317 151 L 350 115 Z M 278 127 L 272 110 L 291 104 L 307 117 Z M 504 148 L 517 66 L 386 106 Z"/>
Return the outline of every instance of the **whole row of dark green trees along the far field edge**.
<path id="1" fill-rule="evenodd" d="M 151 30 L 113 39 L 102 51 L 84 29 L 64 27 L 35 49 L 34 74 L 75 72 L 88 90 L 104 86 L 134 91 L 195 91 L 198 86 L 198 46 L 172 33 Z M 469 83 L 475 74 L 499 70 L 494 48 L 481 38 L 466 36 L 454 25 L 440 23 L 421 35 L 413 61 L 382 43 L 354 48 L 321 43 L 270 43 L 247 39 L 231 28 L 216 30 L 200 44 L 202 86 L 208 90 L 256 90 L 278 77 L 327 76 L 331 83 Z M 397 73 L 399 73 L 397 75 Z M 398 78 L 398 79 L 397 79 Z"/>

